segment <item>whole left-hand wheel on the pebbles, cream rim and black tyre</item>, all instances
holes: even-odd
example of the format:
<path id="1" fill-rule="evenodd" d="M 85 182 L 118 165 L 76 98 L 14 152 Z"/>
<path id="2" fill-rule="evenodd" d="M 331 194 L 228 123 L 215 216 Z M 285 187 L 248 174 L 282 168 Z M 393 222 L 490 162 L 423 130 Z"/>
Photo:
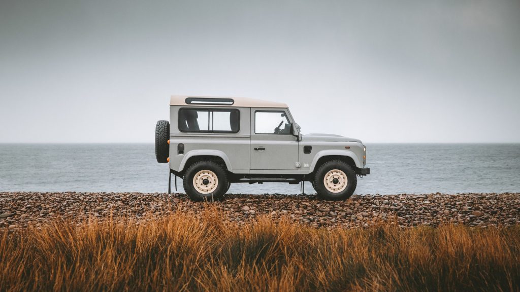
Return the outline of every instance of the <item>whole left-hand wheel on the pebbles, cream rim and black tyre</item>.
<path id="1" fill-rule="evenodd" d="M 228 189 L 226 170 L 213 161 L 192 164 L 185 172 L 183 187 L 193 201 L 214 202 L 224 197 Z"/>

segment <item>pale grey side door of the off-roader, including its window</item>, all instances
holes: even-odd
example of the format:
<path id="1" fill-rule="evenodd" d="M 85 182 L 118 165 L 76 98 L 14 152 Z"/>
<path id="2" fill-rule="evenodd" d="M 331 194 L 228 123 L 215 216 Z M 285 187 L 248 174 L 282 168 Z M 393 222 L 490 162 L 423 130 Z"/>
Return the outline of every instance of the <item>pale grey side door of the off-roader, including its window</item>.
<path id="1" fill-rule="evenodd" d="M 251 170 L 295 170 L 298 141 L 286 109 L 251 109 Z"/>

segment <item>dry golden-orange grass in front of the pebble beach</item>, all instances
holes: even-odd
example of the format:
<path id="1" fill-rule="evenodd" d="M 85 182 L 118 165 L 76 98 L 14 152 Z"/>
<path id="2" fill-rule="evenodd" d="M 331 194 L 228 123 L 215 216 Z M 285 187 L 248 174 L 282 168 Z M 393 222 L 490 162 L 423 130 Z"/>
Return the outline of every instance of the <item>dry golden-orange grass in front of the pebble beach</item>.
<path id="1" fill-rule="evenodd" d="M 520 227 L 327 231 L 218 210 L 0 231 L 4 291 L 518 290 Z"/>

